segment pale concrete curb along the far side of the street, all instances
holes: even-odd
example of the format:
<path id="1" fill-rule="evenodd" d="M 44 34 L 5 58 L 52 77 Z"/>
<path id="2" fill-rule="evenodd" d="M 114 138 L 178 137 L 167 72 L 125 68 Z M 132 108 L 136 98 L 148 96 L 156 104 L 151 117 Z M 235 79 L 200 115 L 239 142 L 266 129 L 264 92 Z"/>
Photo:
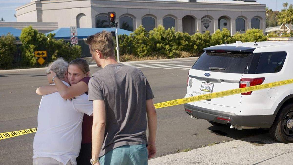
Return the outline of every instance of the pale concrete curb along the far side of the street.
<path id="1" fill-rule="evenodd" d="M 122 62 L 123 64 L 137 63 L 137 62 L 164 62 L 164 61 L 176 61 L 176 60 L 185 60 L 185 59 L 198 59 L 199 57 L 188 57 L 188 58 L 171 58 L 171 59 L 161 59 L 161 60 L 143 60 L 143 61 L 126 61 Z M 90 67 L 97 66 L 96 63 L 89 63 Z M 28 72 L 36 70 L 45 70 L 46 68 L 30 68 L 30 69 L 11 69 L 11 70 L 0 70 L 0 73 L 11 73 L 11 72 Z"/>

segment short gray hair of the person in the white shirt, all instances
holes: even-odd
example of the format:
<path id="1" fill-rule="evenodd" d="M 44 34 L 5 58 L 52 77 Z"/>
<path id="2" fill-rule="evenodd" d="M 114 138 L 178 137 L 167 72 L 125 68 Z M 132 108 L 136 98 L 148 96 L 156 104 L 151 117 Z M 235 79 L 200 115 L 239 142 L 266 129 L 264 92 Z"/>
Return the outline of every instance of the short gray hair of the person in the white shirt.
<path id="1" fill-rule="evenodd" d="M 49 71 L 52 70 L 57 74 L 57 77 L 60 80 L 64 80 L 67 68 L 68 68 L 68 63 L 64 61 L 63 58 L 58 58 L 57 60 L 50 63 L 50 65 L 48 66 L 46 70 L 46 73 L 50 73 Z"/>

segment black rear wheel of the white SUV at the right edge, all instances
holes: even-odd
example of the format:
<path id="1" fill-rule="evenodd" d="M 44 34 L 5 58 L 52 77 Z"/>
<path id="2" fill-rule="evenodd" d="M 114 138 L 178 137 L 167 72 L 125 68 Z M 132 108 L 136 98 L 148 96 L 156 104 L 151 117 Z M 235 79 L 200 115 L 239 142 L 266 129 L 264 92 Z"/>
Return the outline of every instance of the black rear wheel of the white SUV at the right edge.
<path id="1" fill-rule="evenodd" d="M 287 104 L 279 110 L 273 125 L 269 128 L 273 139 L 281 143 L 293 142 L 293 104 Z"/>

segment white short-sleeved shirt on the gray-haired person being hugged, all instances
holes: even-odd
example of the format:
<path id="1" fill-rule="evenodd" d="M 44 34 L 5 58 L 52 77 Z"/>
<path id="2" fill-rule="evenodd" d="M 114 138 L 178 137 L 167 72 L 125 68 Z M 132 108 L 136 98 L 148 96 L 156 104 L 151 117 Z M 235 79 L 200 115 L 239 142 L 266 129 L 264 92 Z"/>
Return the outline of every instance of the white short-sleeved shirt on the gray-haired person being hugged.
<path id="1" fill-rule="evenodd" d="M 69 86 L 66 82 L 64 84 Z M 34 138 L 34 156 L 50 157 L 67 164 L 76 164 L 81 146 L 83 115 L 93 114 L 93 102 L 88 95 L 64 100 L 59 92 L 44 95 L 38 112 L 38 131 Z"/>

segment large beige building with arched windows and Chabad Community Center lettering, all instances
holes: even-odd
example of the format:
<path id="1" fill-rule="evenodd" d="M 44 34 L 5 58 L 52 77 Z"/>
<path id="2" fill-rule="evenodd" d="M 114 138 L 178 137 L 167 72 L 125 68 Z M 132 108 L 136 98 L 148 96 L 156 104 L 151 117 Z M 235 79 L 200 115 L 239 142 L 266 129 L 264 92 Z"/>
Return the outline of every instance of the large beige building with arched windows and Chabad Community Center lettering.
<path id="1" fill-rule="evenodd" d="M 265 33 L 265 4 L 253 0 L 32 0 L 16 8 L 17 22 L 56 22 L 59 28 L 108 27 L 114 11 L 119 28 L 133 31 L 139 25 L 151 30 L 158 25 L 189 34 L 228 28 L 231 34 L 250 28 Z"/>

